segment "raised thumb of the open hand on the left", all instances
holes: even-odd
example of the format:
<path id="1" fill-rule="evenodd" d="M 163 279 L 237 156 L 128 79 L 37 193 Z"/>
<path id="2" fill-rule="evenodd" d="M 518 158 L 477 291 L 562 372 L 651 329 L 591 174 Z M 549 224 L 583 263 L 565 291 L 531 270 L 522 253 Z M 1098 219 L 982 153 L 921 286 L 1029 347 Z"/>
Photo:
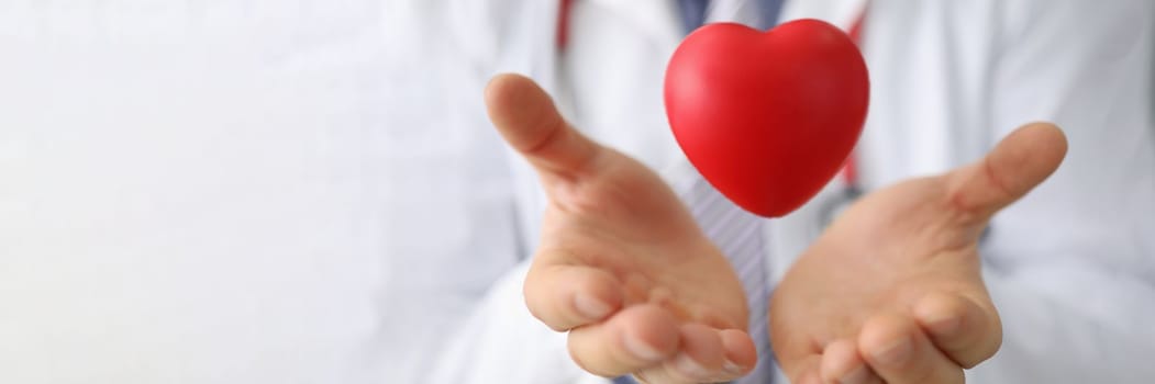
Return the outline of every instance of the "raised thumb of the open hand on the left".
<path id="1" fill-rule="evenodd" d="M 569 127 L 553 100 L 532 80 L 498 75 L 485 86 L 490 120 L 538 172 L 580 172 L 602 150 Z"/>

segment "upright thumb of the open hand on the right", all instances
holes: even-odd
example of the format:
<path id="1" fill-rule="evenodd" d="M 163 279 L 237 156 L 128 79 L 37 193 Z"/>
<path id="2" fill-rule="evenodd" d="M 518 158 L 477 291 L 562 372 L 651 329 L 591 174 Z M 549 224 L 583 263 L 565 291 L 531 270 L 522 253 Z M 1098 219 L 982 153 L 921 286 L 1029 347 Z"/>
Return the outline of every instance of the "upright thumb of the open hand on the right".
<path id="1" fill-rule="evenodd" d="M 1028 123 L 1003 138 L 982 160 L 947 174 L 954 206 L 989 219 L 1046 180 L 1067 153 L 1067 140 L 1052 123 Z"/>

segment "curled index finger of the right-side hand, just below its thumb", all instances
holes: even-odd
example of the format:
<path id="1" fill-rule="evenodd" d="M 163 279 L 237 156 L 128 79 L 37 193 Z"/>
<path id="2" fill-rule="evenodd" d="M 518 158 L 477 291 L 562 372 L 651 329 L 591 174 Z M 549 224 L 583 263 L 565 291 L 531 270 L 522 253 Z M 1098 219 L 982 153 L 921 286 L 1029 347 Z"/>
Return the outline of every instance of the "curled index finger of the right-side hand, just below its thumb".
<path id="1" fill-rule="evenodd" d="M 931 341 L 963 368 L 990 359 L 1003 342 L 993 308 L 984 309 L 957 294 L 927 294 L 915 304 L 914 316 Z"/>

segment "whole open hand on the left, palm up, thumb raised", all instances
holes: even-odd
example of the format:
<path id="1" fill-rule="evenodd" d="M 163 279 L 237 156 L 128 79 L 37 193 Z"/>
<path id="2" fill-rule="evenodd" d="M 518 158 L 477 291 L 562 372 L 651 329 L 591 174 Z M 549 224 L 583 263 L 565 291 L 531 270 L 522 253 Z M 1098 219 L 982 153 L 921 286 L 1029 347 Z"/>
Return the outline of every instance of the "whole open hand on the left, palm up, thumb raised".
<path id="1" fill-rule="evenodd" d="M 574 361 L 648 383 L 747 374 L 757 356 L 742 285 L 669 186 L 571 128 L 529 78 L 494 77 L 485 101 L 550 197 L 526 304 L 569 332 Z"/>

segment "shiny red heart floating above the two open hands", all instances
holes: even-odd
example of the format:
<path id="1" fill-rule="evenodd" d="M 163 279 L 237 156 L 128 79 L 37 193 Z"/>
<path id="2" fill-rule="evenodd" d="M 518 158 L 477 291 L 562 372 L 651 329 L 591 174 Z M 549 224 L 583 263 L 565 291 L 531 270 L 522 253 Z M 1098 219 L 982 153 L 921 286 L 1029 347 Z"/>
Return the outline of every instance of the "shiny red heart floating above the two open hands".
<path id="1" fill-rule="evenodd" d="M 869 93 L 858 47 L 817 20 L 767 32 L 702 27 L 665 74 L 678 145 L 723 195 L 765 217 L 798 209 L 837 174 L 862 133 Z"/>

